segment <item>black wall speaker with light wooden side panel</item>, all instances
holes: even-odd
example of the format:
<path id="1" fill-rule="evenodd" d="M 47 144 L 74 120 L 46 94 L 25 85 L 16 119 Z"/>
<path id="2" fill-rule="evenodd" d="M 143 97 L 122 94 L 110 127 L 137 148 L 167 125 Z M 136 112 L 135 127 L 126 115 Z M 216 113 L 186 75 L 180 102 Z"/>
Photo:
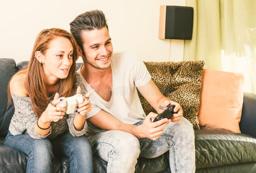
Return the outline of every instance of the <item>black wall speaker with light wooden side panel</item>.
<path id="1" fill-rule="evenodd" d="M 161 5 L 159 38 L 191 40 L 193 14 L 192 7 Z"/>

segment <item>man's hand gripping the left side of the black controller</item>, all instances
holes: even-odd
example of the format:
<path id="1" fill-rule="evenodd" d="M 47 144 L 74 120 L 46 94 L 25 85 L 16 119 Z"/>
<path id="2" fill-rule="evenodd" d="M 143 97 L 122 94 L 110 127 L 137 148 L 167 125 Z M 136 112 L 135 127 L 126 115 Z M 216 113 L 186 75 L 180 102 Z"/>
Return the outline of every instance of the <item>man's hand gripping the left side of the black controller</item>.
<path id="1" fill-rule="evenodd" d="M 151 118 L 156 118 L 156 116 L 157 114 L 150 112 L 141 125 L 134 127 L 136 134 L 138 134 L 138 136 L 136 135 L 138 139 L 149 138 L 156 140 L 162 135 L 165 126 L 167 126 L 171 120 L 164 118 L 157 122 L 151 122 Z"/>

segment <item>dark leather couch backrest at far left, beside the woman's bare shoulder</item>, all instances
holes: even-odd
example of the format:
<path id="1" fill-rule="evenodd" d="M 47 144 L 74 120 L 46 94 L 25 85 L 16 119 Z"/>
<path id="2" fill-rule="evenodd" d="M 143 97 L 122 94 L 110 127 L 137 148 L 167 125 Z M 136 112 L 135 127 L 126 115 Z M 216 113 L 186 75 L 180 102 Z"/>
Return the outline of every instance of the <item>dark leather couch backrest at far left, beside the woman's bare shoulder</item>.
<path id="1" fill-rule="evenodd" d="M 0 137 L 5 137 L 14 113 L 14 106 L 7 99 L 7 86 L 17 72 L 16 63 L 13 59 L 0 59 Z"/>

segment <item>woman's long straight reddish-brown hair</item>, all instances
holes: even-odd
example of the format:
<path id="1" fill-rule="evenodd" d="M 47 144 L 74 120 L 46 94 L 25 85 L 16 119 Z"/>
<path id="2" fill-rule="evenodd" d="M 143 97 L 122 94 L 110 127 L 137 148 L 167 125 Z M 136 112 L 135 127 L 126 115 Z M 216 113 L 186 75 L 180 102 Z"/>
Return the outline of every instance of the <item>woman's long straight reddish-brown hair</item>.
<path id="1" fill-rule="evenodd" d="M 28 91 L 28 96 L 30 97 L 31 104 L 37 118 L 41 116 L 51 100 L 46 87 L 43 67 L 41 67 L 40 62 L 36 59 L 35 52 L 41 51 L 41 53 L 45 55 L 46 51 L 49 49 L 50 41 L 54 40 L 56 37 L 68 38 L 73 46 L 73 64 L 70 67 L 68 77 L 65 79 L 59 79 L 57 83 L 57 92 L 60 94 L 60 97 L 70 97 L 72 95 L 72 91 L 75 89 L 78 48 L 73 35 L 63 29 L 51 28 L 42 30 L 36 37 L 28 66 L 15 74 L 26 74 L 25 87 Z M 10 82 L 8 84 L 8 100 L 9 102 L 12 100 Z"/>

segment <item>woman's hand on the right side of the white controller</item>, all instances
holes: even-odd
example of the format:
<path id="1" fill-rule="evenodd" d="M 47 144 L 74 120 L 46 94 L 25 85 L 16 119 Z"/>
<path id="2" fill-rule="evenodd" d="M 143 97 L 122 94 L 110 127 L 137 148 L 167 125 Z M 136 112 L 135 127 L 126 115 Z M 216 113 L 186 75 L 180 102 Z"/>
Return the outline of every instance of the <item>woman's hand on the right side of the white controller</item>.
<path id="1" fill-rule="evenodd" d="M 92 104 L 89 100 L 90 98 L 90 95 L 92 94 L 94 90 L 92 91 L 89 91 L 85 94 L 85 96 L 83 96 L 84 98 L 84 102 L 83 103 L 80 103 L 76 108 L 76 113 L 77 114 L 80 114 L 80 115 L 85 115 L 85 114 L 88 114 L 91 109 L 92 109 Z M 81 88 L 80 87 L 77 87 L 77 90 L 76 90 L 76 94 L 80 94 L 81 93 Z"/>

